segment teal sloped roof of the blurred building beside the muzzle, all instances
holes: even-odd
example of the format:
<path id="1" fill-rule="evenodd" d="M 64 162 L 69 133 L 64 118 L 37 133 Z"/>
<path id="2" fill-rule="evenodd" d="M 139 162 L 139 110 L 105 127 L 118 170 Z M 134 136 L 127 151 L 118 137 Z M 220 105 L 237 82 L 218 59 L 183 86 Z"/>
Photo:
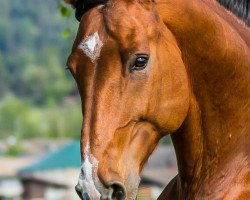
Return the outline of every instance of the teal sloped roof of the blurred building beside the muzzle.
<path id="1" fill-rule="evenodd" d="M 80 157 L 79 141 L 72 141 L 62 148 L 46 154 L 31 165 L 20 169 L 19 173 L 63 168 L 79 168 L 81 166 Z"/>

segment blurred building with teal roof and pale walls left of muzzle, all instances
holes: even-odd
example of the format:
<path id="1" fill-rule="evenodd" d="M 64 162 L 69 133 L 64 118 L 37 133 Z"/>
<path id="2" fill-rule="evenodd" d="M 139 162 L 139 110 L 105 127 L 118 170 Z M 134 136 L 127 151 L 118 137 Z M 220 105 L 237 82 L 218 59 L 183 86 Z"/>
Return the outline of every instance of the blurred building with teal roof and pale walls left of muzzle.
<path id="1" fill-rule="evenodd" d="M 23 199 L 77 199 L 74 186 L 80 168 L 79 142 L 73 141 L 22 168 Z"/>

